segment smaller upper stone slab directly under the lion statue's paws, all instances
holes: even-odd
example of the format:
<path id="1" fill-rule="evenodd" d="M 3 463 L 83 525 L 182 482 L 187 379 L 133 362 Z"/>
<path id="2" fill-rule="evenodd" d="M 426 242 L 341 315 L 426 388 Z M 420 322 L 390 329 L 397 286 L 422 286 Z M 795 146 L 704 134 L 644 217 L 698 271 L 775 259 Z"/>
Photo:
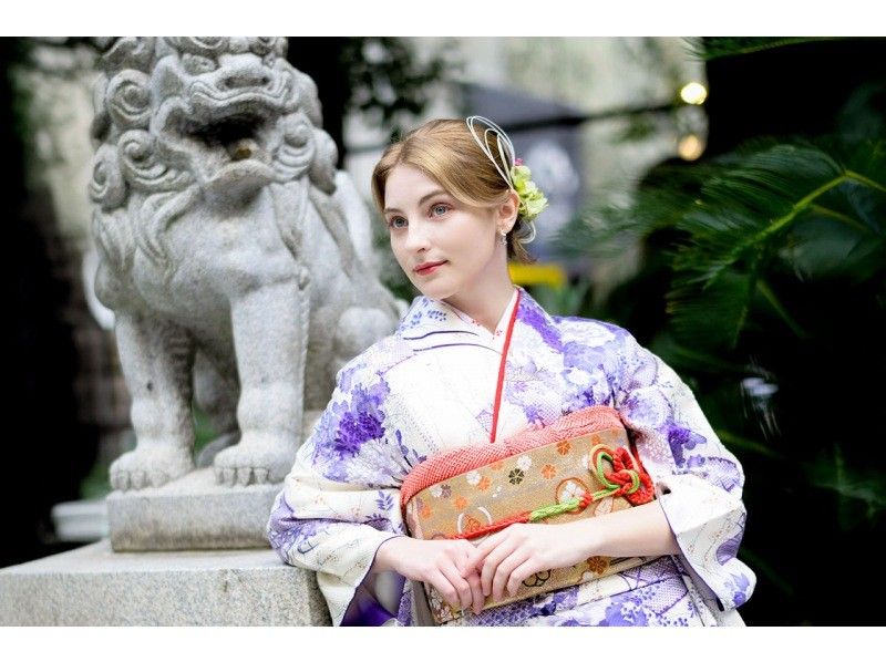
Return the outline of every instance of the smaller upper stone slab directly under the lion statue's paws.
<path id="1" fill-rule="evenodd" d="M 282 484 L 226 487 L 212 468 L 107 496 L 114 551 L 270 547 L 265 526 Z"/>

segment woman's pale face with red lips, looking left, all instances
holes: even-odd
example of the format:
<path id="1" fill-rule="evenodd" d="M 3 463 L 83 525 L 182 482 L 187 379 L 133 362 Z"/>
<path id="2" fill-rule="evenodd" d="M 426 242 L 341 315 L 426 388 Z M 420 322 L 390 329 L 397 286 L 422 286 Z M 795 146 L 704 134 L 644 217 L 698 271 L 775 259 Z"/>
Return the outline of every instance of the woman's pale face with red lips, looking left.
<path id="1" fill-rule="evenodd" d="M 432 299 L 468 291 L 494 278 L 502 266 L 506 271 L 507 252 L 498 241 L 498 229 L 509 230 L 514 219 L 508 220 L 505 211 L 465 205 L 422 170 L 404 164 L 391 169 L 384 186 L 391 249 L 413 285 Z M 430 271 L 415 270 L 425 262 L 443 263 Z"/>

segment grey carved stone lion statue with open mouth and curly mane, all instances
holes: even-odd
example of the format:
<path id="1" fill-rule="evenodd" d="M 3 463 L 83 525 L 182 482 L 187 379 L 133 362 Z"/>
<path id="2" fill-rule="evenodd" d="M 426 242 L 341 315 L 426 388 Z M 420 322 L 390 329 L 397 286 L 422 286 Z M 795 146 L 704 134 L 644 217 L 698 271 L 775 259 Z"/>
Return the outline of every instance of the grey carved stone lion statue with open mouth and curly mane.
<path id="1" fill-rule="evenodd" d="M 193 401 L 219 432 L 204 454 L 219 483 L 280 482 L 305 410 L 405 310 L 372 268 L 369 213 L 285 38 L 101 45 L 95 294 L 115 313 L 137 438 L 112 487 L 195 468 Z"/>

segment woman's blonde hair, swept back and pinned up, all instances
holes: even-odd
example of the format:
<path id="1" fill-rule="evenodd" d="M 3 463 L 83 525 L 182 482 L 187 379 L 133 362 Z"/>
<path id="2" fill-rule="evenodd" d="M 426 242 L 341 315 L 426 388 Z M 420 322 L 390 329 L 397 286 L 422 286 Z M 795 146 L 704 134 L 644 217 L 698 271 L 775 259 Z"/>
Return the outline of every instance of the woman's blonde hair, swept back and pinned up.
<path id="1" fill-rule="evenodd" d="M 498 153 L 498 136 L 490 133 L 490 147 Z M 372 197 L 379 211 L 384 209 L 384 186 L 394 166 L 419 168 L 440 183 L 455 199 L 476 207 L 498 205 L 511 188 L 474 141 L 464 120 L 431 120 L 390 145 L 372 170 Z M 514 164 L 504 164 L 511 169 Z M 522 216 L 507 234 L 507 257 L 532 265 L 532 257 L 519 239 L 532 235 Z"/>

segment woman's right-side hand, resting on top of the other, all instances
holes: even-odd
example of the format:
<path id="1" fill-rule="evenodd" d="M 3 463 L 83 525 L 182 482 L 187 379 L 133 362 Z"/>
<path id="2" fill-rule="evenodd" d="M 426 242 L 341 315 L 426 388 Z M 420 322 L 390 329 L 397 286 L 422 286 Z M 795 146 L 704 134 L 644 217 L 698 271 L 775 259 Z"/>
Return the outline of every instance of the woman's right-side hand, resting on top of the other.
<path id="1" fill-rule="evenodd" d="M 590 546 L 569 524 L 512 524 L 483 540 L 468 563 L 481 577 L 484 596 L 496 602 L 505 590 L 513 596 L 519 585 L 536 572 L 566 568 L 591 555 Z"/>

